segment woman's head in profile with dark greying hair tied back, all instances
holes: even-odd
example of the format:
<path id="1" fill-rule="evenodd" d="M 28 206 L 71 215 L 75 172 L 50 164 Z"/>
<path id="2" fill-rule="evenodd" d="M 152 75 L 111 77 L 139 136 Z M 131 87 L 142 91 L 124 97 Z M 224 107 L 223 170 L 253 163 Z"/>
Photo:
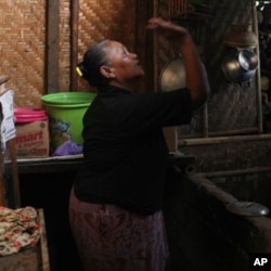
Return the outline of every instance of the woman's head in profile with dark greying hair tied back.
<path id="1" fill-rule="evenodd" d="M 114 40 L 95 43 L 85 53 L 78 68 L 92 87 L 114 85 L 129 88 L 131 81 L 144 75 L 137 54 Z"/>

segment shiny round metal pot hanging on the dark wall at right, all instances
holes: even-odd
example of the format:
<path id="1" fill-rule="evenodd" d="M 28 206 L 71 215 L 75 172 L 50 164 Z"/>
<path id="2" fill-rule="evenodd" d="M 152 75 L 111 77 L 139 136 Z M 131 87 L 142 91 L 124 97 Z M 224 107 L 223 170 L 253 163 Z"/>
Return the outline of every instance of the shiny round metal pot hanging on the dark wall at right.
<path id="1" fill-rule="evenodd" d="M 225 78 L 232 82 L 250 81 L 256 75 L 258 56 L 249 50 L 231 50 L 222 62 Z"/>

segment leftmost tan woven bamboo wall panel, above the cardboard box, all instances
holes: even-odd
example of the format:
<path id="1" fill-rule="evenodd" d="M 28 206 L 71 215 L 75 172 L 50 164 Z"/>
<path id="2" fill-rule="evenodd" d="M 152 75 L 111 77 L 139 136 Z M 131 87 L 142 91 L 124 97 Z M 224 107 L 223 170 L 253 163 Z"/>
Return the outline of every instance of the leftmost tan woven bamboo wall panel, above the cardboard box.
<path id="1" fill-rule="evenodd" d="M 43 91 L 44 1 L 0 1 L 0 74 L 17 105 L 36 106 Z"/>

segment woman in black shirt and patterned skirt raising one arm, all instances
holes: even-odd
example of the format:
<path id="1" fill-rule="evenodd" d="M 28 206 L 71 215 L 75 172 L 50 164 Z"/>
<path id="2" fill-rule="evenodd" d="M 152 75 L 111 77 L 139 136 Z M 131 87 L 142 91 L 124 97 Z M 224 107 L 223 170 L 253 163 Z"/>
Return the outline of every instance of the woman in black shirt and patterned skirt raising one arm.
<path id="1" fill-rule="evenodd" d="M 70 225 L 85 270 L 169 270 L 162 212 L 166 159 L 163 127 L 189 124 L 208 85 L 188 30 L 162 18 L 146 26 L 180 44 L 186 88 L 136 93 L 144 75 L 137 54 L 103 40 L 79 74 L 98 88 L 83 118 L 83 170 L 70 193 Z"/>

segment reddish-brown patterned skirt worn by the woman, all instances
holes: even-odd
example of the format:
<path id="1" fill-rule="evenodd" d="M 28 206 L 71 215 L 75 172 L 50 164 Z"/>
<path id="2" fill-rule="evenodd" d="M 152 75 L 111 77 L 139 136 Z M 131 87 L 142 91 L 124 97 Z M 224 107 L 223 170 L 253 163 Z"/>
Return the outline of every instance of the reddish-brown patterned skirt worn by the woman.
<path id="1" fill-rule="evenodd" d="M 72 189 L 69 222 L 85 271 L 170 270 L 162 211 L 141 216 L 80 202 Z"/>

